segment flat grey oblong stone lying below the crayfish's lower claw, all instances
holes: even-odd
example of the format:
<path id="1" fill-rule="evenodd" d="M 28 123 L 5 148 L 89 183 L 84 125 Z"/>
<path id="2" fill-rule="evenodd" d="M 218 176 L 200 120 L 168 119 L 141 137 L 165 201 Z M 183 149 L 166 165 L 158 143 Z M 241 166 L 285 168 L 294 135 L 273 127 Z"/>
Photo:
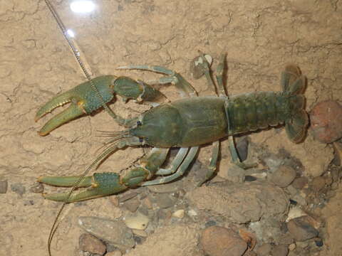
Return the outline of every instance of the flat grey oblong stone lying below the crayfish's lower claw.
<path id="1" fill-rule="evenodd" d="M 86 232 L 123 250 L 135 245 L 132 231 L 120 220 L 98 217 L 80 217 L 78 225 Z"/>

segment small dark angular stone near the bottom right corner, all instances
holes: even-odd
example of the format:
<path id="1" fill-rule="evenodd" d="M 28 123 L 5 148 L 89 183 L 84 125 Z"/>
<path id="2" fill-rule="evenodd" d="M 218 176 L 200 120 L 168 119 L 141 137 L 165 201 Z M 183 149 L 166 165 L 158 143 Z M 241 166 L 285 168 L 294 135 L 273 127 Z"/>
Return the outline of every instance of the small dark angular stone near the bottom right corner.
<path id="1" fill-rule="evenodd" d="M 315 238 L 318 235 L 318 230 L 306 222 L 305 216 L 290 220 L 287 223 L 287 228 L 294 237 L 294 240 L 300 242 Z"/>

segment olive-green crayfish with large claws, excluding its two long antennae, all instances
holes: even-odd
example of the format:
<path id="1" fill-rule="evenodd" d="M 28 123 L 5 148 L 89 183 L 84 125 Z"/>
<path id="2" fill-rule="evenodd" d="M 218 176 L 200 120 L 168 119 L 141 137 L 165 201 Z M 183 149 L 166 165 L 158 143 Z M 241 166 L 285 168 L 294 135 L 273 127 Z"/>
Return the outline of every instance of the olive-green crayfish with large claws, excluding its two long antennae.
<path id="1" fill-rule="evenodd" d="M 136 166 L 124 170 L 121 174 L 95 173 L 93 176 L 87 176 L 78 184 L 78 187 L 86 188 L 80 189 L 72 195 L 52 193 L 44 196 L 53 201 L 70 203 L 107 196 L 136 186 L 149 186 L 174 181 L 187 170 L 195 158 L 199 146 L 212 142 L 212 157 L 205 179 L 201 181 L 203 183 L 214 174 L 216 169 L 219 139 L 228 137 L 232 161 L 242 168 L 248 168 L 254 165 L 245 164 L 239 160 L 234 147 L 233 135 L 265 129 L 269 126 L 285 124 L 289 139 L 295 143 L 301 142 L 306 134 L 308 115 L 304 110 L 305 98 L 303 95 L 306 78 L 301 75 L 299 68 L 295 65 L 286 66 L 284 72 L 281 73 L 281 92 L 250 92 L 227 97 L 222 82 L 224 57 L 222 55 L 217 68 L 218 96 L 197 97 L 195 89 L 185 78 L 167 68 L 147 65 L 123 67 L 124 69 L 150 70 L 162 73 L 166 76 L 160 78 L 158 82 L 161 84 L 172 83 L 189 97 L 158 105 L 133 119 L 121 117 L 115 119 L 119 124 L 125 125 L 127 129 L 121 132 L 113 132 L 113 138 L 106 143 L 108 147 L 94 162 L 98 163 L 108 154 L 125 146 L 153 146 L 152 150 L 142 157 Z M 207 82 L 215 89 L 215 83 L 209 74 L 209 63 L 207 63 L 204 55 L 201 55 L 199 60 L 199 68 L 204 70 Z M 110 80 L 110 82 L 103 82 L 103 80 Z M 94 82 L 99 87 L 98 90 L 100 90 L 105 102 L 113 97 L 113 87 L 115 88 L 118 82 L 123 89 L 120 95 L 124 95 L 126 98 L 136 99 L 145 96 L 153 100 L 153 98 L 159 97 L 158 92 L 152 90 L 149 85 L 130 80 L 130 78 L 104 76 L 95 78 Z M 105 89 L 101 89 L 103 84 L 105 84 Z M 142 85 L 144 86 L 142 87 Z M 133 96 L 132 92 L 136 87 L 145 88 L 145 90 L 140 90 Z M 118 93 L 118 90 L 115 92 Z M 46 103 L 38 111 L 37 119 L 50 112 L 54 107 L 64 104 L 66 98 L 70 99 L 70 95 L 72 95 L 72 99 L 69 100 L 72 104 L 70 109 L 53 117 L 43 127 L 41 135 L 48 134 L 52 129 L 79 114 L 83 114 L 83 112 L 88 114 L 101 106 L 100 99 L 96 97 L 86 82 Z M 164 163 L 171 147 L 180 147 L 180 149 L 170 166 L 162 169 L 160 166 Z M 147 181 L 155 176 L 162 177 Z M 43 176 L 38 181 L 52 186 L 73 186 L 78 178 L 79 176 Z"/>

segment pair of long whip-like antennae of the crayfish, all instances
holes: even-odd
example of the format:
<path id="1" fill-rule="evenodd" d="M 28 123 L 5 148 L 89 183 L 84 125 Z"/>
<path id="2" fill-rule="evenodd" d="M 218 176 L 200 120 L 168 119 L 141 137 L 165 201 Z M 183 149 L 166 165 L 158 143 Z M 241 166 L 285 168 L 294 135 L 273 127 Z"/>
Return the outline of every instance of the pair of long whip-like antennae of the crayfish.
<path id="1" fill-rule="evenodd" d="M 81 69 L 83 70 L 84 75 L 86 75 L 86 78 L 89 80 L 90 86 L 93 89 L 93 91 L 95 92 L 95 94 L 97 95 L 97 97 L 100 99 L 103 108 L 111 117 L 113 117 L 114 119 L 118 119 L 118 116 L 112 110 L 110 110 L 110 108 L 105 104 L 103 97 L 100 95 L 100 92 L 98 91 L 98 88 L 95 85 L 95 82 L 93 82 L 90 74 L 88 73 L 88 70 L 86 69 L 86 65 L 84 65 L 83 61 L 81 60 L 80 51 L 76 48 L 75 43 L 73 42 L 73 40 L 68 35 L 68 31 L 66 30 L 66 26 L 64 26 L 63 21 L 58 16 L 56 10 L 53 8 L 50 1 L 45 0 L 45 3 L 46 3 L 46 6 L 48 6 L 48 9 L 50 10 L 51 14 L 53 15 L 53 18 L 56 20 L 58 27 L 61 29 L 61 32 L 63 33 L 64 38 L 66 38 L 66 41 L 68 41 L 68 45 L 70 46 L 71 50 L 73 51 L 73 55 L 75 56 L 75 58 L 78 62 L 78 65 L 80 65 Z M 73 191 L 75 191 L 76 187 L 78 187 L 78 185 L 81 183 L 81 181 L 83 181 L 84 177 L 88 174 L 90 169 L 92 169 L 93 166 L 95 166 L 95 164 L 97 164 L 97 162 L 98 161 L 95 160 L 93 162 L 93 164 L 90 164 L 90 166 L 88 166 L 88 168 L 83 173 L 83 175 L 78 179 L 78 181 L 76 181 L 76 183 L 73 185 L 73 188 L 71 188 L 71 191 L 68 193 L 66 201 L 63 202 L 61 209 L 58 211 L 58 213 L 56 215 L 56 219 L 53 222 L 53 225 L 51 227 L 50 234 L 48 235 L 48 255 L 49 256 L 51 256 L 51 242 L 52 242 L 53 236 L 55 235 L 56 230 L 58 228 L 58 225 L 59 225 L 58 219 L 61 216 L 63 209 L 66 207 L 66 204 L 68 203 Z"/>

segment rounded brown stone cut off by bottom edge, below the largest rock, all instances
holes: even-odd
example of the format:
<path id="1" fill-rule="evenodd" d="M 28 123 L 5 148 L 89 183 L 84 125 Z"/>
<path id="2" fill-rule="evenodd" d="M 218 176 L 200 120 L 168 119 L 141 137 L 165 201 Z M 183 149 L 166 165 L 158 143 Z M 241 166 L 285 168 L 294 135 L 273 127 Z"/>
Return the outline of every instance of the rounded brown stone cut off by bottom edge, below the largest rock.
<path id="1" fill-rule="evenodd" d="M 237 233 L 218 226 L 203 230 L 200 241 L 210 256 L 241 256 L 247 250 L 247 243 Z"/>

